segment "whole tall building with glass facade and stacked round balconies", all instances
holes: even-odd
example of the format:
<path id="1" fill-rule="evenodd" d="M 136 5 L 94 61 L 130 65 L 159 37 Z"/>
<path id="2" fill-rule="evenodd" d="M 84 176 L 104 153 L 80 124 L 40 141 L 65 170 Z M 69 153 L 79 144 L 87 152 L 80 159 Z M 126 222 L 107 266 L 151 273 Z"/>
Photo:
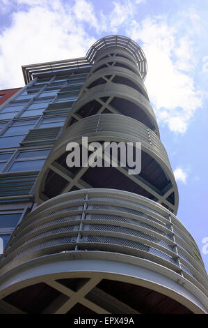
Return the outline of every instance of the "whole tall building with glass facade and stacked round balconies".
<path id="1" fill-rule="evenodd" d="M 107 36 L 85 58 L 22 69 L 0 107 L 1 313 L 207 313 L 141 47 Z M 83 136 L 141 142 L 141 173 L 68 167 Z"/>

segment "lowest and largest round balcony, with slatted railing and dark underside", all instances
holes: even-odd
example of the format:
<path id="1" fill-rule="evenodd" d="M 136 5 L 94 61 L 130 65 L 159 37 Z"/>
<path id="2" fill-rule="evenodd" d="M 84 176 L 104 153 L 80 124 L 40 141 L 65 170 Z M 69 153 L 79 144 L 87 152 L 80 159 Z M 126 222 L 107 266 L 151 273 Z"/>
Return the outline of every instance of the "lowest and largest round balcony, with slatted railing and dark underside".
<path id="1" fill-rule="evenodd" d="M 184 225 L 160 204 L 112 189 L 41 204 L 0 262 L 0 299 L 26 313 L 207 313 L 206 289 Z"/>

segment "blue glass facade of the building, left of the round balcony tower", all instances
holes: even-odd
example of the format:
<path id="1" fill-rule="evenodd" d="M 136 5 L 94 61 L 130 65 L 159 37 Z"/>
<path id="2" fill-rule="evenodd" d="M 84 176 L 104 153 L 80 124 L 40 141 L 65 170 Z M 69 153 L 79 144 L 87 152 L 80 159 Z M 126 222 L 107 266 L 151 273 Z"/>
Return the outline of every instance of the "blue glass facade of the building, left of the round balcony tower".
<path id="1" fill-rule="evenodd" d="M 89 68 L 49 71 L 0 106 L 0 238 L 3 246 L 34 204 L 38 173 L 83 86 Z M 56 108 L 53 107 L 53 104 Z M 51 105 L 51 107 L 49 106 Z"/>

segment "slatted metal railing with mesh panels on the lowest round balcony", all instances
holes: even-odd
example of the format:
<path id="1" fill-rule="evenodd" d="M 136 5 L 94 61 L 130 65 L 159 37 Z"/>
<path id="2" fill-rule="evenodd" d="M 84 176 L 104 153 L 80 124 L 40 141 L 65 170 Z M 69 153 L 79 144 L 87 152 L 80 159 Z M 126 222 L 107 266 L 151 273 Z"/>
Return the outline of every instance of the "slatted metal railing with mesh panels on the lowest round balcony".
<path id="1" fill-rule="evenodd" d="M 151 262 L 153 271 L 163 267 L 163 276 L 172 272 L 173 280 L 182 278 L 193 295 L 207 295 L 207 274 L 189 232 L 170 211 L 140 195 L 88 189 L 41 204 L 17 226 L 6 246 L 1 281 L 24 264 L 30 269 L 33 260 L 47 262 L 47 256 L 64 252 L 67 258 L 74 252 L 91 257 L 99 252 L 99 258 L 102 253 L 111 260 L 115 255 L 118 262 L 125 255 L 122 261 L 134 265 L 139 258 L 143 265 Z"/>

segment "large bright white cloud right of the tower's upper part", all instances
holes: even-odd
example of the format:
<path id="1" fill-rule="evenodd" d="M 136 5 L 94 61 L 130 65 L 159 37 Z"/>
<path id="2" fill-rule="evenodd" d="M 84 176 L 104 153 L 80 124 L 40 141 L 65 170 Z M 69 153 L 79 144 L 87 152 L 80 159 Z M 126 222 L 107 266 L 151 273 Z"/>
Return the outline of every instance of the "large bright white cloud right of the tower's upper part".
<path id="1" fill-rule="evenodd" d="M 195 110 L 202 107 L 202 91 L 193 80 L 195 61 L 189 35 L 179 35 L 177 24 L 168 26 L 163 17 L 133 21 L 129 35 L 141 40 L 147 57 L 147 86 L 157 119 L 171 131 L 184 133 Z"/>

